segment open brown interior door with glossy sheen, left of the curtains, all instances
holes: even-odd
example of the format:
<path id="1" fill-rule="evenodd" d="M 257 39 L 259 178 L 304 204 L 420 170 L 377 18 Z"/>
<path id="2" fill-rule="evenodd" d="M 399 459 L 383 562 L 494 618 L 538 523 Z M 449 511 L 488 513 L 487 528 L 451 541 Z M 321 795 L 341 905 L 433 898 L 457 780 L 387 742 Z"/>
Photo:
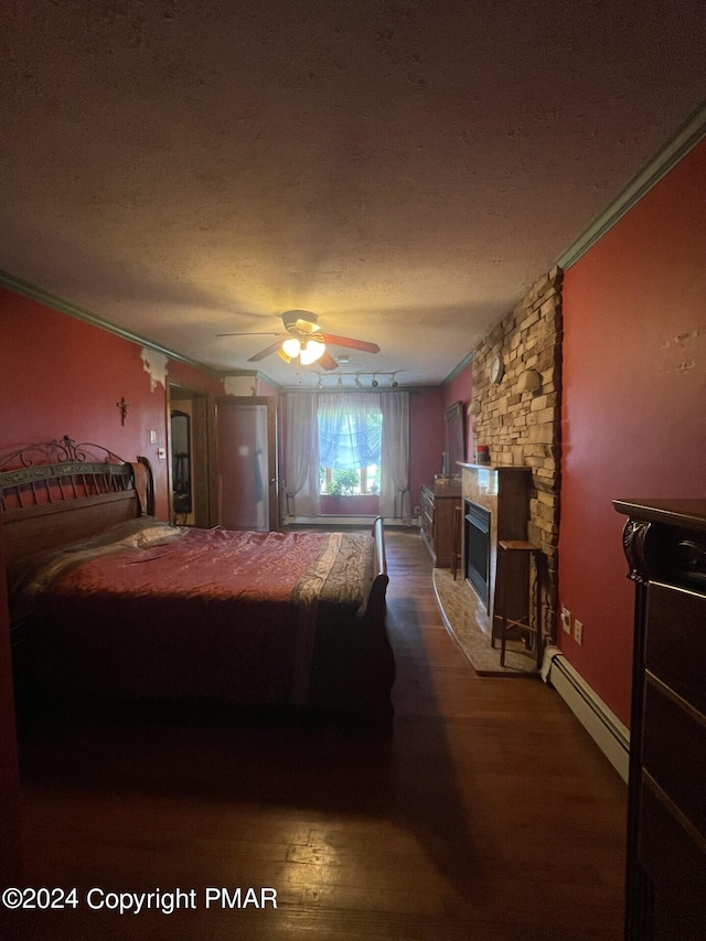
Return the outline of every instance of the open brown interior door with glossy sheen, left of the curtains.
<path id="1" fill-rule="evenodd" d="M 274 398 L 216 399 L 218 522 L 224 530 L 278 528 L 277 405 Z"/>

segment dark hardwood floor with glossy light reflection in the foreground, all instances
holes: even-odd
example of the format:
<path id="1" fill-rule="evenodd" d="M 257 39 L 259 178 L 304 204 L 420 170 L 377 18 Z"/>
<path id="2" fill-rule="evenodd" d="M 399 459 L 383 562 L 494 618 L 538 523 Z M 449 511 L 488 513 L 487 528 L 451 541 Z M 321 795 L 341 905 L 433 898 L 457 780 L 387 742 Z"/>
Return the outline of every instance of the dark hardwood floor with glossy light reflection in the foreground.
<path id="1" fill-rule="evenodd" d="M 416 533 L 387 548 L 392 740 L 293 716 L 40 714 L 20 736 L 24 884 L 75 886 L 78 907 L 15 913 L 7 937 L 622 937 L 622 781 L 541 681 L 475 676 Z M 206 908 L 208 887 L 250 903 Z M 152 908 L 93 910 L 93 888 Z M 252 903 L 264 888 L 276 909 Z"/>

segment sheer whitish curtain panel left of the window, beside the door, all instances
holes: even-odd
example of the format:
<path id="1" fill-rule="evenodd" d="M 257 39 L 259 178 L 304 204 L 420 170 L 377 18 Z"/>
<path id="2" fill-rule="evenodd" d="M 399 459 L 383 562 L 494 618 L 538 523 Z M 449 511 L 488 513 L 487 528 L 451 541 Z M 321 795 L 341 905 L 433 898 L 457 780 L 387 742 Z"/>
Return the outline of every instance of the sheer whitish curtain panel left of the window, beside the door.
<path id="1" fill-rule="evenodd" d="M 319 516 L 319 425 L 315 393 L 288 395 L 285 413 L 286 513 Z"/>

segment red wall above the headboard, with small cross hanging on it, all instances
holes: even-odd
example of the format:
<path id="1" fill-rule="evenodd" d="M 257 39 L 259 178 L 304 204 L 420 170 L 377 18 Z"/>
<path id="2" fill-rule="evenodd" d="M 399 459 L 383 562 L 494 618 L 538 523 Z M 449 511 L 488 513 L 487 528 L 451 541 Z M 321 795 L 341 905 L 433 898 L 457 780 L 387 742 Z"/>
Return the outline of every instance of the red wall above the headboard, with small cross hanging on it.
<path id="1" fill-rule="evenodd" d="M 142 347 L 106 330 L 0 288 L 0 457 L 30 442 L 68 435 L 125 460 L 148 457 L 154 469 L 157 515 L 168 518 L 167 396 L 145 371 Z M 218 379 L 179 361 L 169 378 L 203 392 Z M 116 403 L 130 404 L 126 424 Z M 150 431 L 156 442 L 150 443 Z"/>

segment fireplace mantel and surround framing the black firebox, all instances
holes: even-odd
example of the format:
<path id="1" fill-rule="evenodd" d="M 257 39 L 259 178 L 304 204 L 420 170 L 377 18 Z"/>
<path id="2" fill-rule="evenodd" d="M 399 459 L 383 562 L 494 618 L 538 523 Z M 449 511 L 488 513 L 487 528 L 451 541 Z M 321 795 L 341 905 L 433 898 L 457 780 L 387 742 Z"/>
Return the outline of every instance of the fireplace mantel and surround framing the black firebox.
<path id="1" fill-rule="evenodd" d="M 499 539 L 527 538 L 532 468 L 524 464 L 470 463 L 461 463 L 460 468 L 463 501 L 469 500 L 490 513 L 488 617 L 492 628 L 498 591 L 498 542 Z M 466 557 L 463 557 L 463 571 L 466 571 Z M 509 607 L 520 609 L 523 605 L 525 599 L 514 600 L 511 586 Z"/>

